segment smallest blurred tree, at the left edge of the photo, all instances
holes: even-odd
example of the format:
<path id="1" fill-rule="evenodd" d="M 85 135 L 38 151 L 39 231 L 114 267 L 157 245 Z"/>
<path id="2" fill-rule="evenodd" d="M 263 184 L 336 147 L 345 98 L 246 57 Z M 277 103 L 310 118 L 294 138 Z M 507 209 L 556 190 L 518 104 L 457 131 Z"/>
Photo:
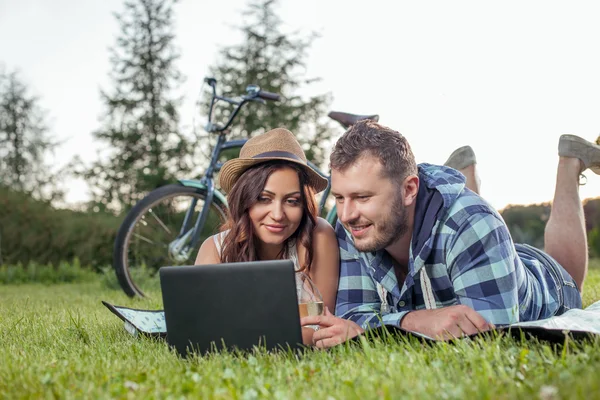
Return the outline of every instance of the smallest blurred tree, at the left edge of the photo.
<path id="1" fill-rule="evenodd" d="M 49 135 L 38 102 L 16 71 L 0 71 L 0 186 L 40 200 L 58 200 L 63 196 L 58 173 L 44 159 L 58 142 Z"/>

